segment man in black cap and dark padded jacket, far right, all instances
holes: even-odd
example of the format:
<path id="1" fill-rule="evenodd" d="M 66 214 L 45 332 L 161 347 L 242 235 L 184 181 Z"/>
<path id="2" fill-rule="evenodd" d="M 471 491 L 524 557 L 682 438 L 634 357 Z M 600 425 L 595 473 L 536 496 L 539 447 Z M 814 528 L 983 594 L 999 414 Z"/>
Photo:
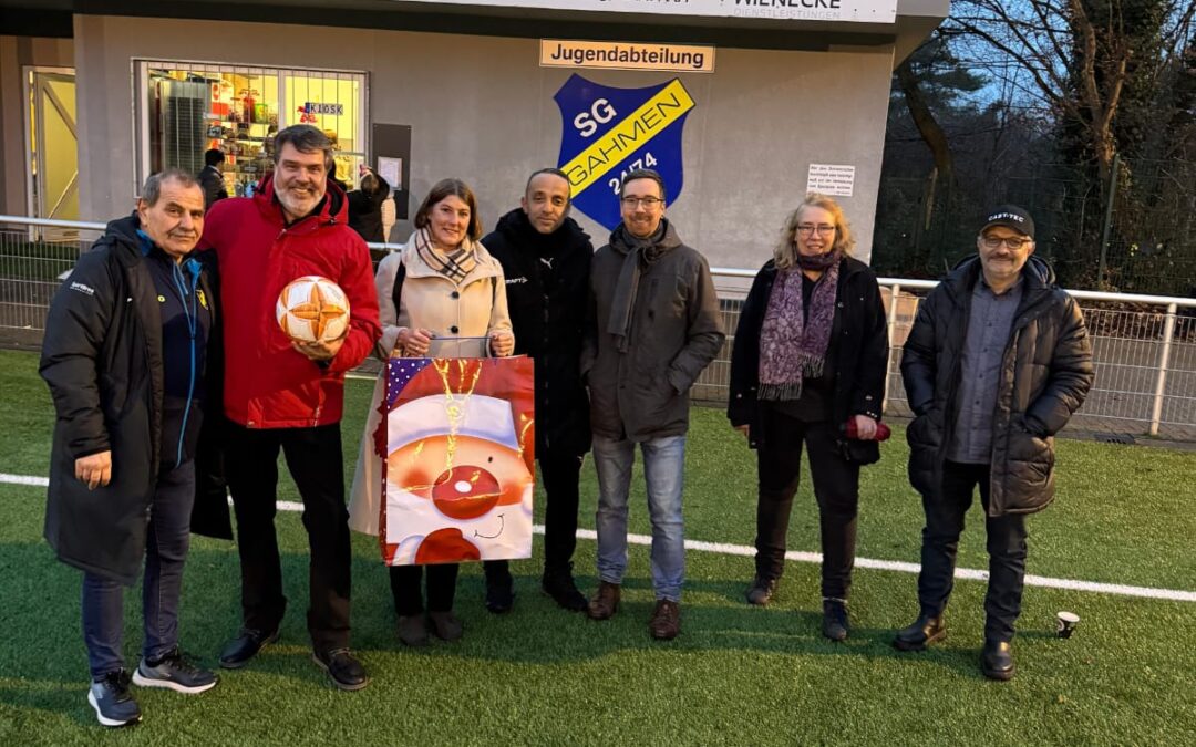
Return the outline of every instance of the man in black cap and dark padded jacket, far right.
<path id="1" fill-rule="evenodd" d="M 920 651 L 946 636 L 964 516 L 978 485 L 988 531 L 981 669 L 1013 676 L 1013 625 L 1026 573 L 1026 514 L 1055 492 L 1054 435 L 1092 386 L 1079 306 L 1033 257 L 1035 221 L 1017 206 L 988 213 L 977 257 L 960 262 L 917 311 L 902 356 L 915 418 L 909 479 L 922 494 L 921 612 L 893 645 Z"/>

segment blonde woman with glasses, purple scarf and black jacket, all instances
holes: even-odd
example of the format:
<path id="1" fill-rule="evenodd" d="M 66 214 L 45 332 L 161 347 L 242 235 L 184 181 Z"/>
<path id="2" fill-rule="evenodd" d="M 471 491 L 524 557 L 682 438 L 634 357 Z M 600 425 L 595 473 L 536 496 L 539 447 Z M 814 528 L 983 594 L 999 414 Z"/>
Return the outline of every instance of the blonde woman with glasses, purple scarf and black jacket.
<path id="1" fill-rule="evenodd" d="M 789 512 L 803 446 L 822 534 L 823 635 L 847 638 L 855 563 L 860 465 L 880 458 L 878 437 L 889 361 L 877 277 L 852 258 L 843 210 L 810 194 L 744 301 L 731 354 L 727 417 L 757 452 L 756 577 L 752 605 L 767 605 L 785 568 Z"/>

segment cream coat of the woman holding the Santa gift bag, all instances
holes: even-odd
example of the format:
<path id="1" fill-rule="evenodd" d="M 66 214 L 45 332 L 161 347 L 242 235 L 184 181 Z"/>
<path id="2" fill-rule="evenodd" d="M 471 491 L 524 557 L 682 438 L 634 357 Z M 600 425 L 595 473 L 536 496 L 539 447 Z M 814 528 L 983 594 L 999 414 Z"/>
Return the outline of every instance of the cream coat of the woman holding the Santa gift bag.
<path id="1" fill-rule="evenodd" d="M 398 335 L 403 329 L 413 326 L 435 333 L 428 350 L 428 355 L 433 357 L 488 355 L 489 344 L 486 339 L 456 342 L 448 338 L 488 337 L 501 330 L 511 331 L 502 265 L 484 246 L 475 244 L 477 267 L 458 284 L 420 258 L 415 251 L 415 239 L 416 234 L 413 234 L 403 249 L 388 255 L 378 264 L 374 284 L 378 288 L 382 339 L 374 350 L 376 355 L 384 361 L 390 355 L 402 357 L 403 350 L 395 349 Z M 407 275 L 399 299 L 402 307 L 396 310 L 393 292 L 399 264 L 407 265 Z M 457 298 L 453 298 L 454 293 Z M 456 332 L 452 331 L 454 326 Z M 383 368 L 370 400 L 370 415 L 366 417 L 365 433 L 361 434 L 349 497 L 349 528 L 374 535 L 378 534 L 378 515 L 382 510 L 382 464 L 380 458 L 373 453 L 373 434 L 382 422 L 378 410 L 386 391 L 385 380 L 386 369 Z"/>

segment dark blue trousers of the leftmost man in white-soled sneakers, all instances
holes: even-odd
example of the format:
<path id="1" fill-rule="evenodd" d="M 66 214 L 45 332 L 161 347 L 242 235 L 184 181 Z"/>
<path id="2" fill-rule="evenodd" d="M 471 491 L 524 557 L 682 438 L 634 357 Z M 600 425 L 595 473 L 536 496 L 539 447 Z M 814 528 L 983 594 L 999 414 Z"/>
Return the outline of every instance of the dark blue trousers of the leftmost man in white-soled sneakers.
<path id="1" fill-rule="evenodd" d="M 194 502 L 195 461 L 184 461 L 175 469 L 163 466 L 150 508 L 146 574 L 141 584 L 146 659 L 160 659 L 178 645 L 178 599 Z M 116 581 L 84 573 L 83 636 L 93 679 L 124 668 L 123 632 L 124 588 Z"/>

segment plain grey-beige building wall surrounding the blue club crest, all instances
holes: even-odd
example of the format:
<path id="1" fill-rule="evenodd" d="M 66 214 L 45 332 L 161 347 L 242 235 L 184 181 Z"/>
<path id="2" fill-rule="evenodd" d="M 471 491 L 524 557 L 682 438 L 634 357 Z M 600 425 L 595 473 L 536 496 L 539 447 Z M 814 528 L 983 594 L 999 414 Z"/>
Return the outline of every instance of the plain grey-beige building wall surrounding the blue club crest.
<path id="1" fill-rule="evenodd" d="M 413 127 L 413 201 L 437 179 L 462 177 L 490 227 L 518 203 L 526 173 L 555 165 L 560 151 L 553 96 L 570 73 L 538 67 L 537 49 L 521 38 L 75 16 L 81 214 L 104 220 L 130 204 L 130 61 L 150 57 L 365 71 L 371 120 Z M 681 75 L 696 102 L 684 131 L 685 185 L 669 208 L 682 238 L 713 265 L 756 268 L 804 194 L 810 163 L 850 164 L 855 195 L 843 203 L 868 257 L 891 69 L 891 47 L 719 49 L 714 74 Z M 620 87 L 672 76 L 585 75 Z M 605 241 L 604 229 L 575 216 Z M 392 238 L 409 231 L 401 224 Z"/>

